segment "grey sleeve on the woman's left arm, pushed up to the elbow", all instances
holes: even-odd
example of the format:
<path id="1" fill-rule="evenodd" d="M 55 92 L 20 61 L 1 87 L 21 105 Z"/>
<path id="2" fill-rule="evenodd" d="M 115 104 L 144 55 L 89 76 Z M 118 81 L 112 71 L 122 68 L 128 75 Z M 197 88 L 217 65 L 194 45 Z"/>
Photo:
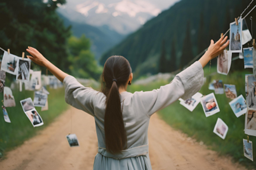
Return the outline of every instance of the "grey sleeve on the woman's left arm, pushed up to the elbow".
<path id="1" fill-rule="evenodd" d="M 65 77 L 63 84 L 66 103 L 94 116 L 93 102 L 98 91 L 84 87 L 71 75 Z"/>

